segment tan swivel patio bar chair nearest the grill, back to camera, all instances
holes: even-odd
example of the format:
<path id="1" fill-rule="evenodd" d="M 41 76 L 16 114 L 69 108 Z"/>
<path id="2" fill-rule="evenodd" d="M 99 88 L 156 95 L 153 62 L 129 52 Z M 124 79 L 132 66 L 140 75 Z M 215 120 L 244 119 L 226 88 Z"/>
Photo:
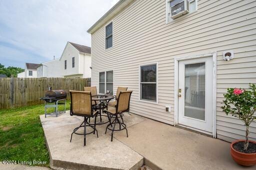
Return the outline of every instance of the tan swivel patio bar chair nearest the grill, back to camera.
<path id="1" fill-rule="evenodd" d="M 98 138 L 98 132 L 96 130 L 96 118 L 94 119 L 94 126 L 88 123 L 88 118 L 96 117 L 98 114 L 98 111 L 94 111 L 91 104 L 91 92 L 89 91 L 73 91 L 69 90 L 70 92 L 70 98 L 71 98 L 71 104 L 70 104 L 70 116 L 81 116 L 84 118 L 83 122 L 80 126 L 74 128 L 70 142 L 72 140 L 72 135 L 83 135 L 83 146 L 86 145 L 86 135 L 88 134 L 97 134 Z M 77 133 L 76 131 L 83 127 L 83 133 Z M 86 127 L 92 128 L 93 131 L 86 133 Z"/>

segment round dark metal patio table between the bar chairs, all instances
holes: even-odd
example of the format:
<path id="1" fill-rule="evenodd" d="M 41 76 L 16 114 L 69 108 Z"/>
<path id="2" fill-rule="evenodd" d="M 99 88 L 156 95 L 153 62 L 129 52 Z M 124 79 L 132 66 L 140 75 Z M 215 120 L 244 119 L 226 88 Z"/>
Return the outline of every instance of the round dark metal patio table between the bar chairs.
<path id="1" fill-rule="evenodd" d="M 100 122 L 96 123 L 96 125 L 103 125 L 108 122 L 108 121 L 103 122 L 101 118 L 101 116 L 105 116 L 109 120 L 108 115 L 101 115 L 101 113 L 103 112 L 103 109 L 106 108 L 106 104 L 112 99 L 114 99 L 114 96 L 108 95 L 108 94 L 97 94 L 97 95 L 91 96 L 92 101 L 99 101 L 99 103 L 94 106 L 97 110 L 99 110 L 99 118 L 100 118 Z M 101 109 L 102 109 L 102 112 L 101 112 Z"/>

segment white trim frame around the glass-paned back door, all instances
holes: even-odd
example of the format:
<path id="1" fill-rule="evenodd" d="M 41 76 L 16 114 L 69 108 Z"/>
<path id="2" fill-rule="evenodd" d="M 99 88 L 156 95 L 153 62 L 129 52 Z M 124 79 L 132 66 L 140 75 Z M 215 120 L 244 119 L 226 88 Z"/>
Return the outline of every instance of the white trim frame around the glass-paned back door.
<path id="1" fill-rule="evenodd" d="M 195 59 L 201 57 L 212 57 L 213 61 L 213 89 L 212 89 L 212 137 L 216 138 L 216 52 L 200 54 L 196 56 L 174 57 L 174 126 L 178 125 L 178 61 Z M 180 126 L 180 125 L 179 125 Z M 191 128 L 188 128 L 191 129 Z M 196 129 L 195 129 L 196 130 Z M 198 131 L 198 130 L 196 130 Z M 199 131 L 201 132 L 201 131 Z M 203 132 L 208 134 L 206 132 Z"/>

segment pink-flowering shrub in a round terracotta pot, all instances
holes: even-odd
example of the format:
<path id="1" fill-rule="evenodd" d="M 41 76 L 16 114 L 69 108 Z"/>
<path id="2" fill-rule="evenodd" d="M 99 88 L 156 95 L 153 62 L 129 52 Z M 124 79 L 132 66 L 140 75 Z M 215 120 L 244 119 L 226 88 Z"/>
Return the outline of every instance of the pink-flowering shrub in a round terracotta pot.
<path id="1" fill-rule="evenodd" d="M 246 128 L 245 140 L 232 142 L 230 154 L 237 164 L 253 166 L 256 164 L 256 142 L 248 140 L 248 135 L 250 124 L 256 120 L 256 84 L 249 84 L 249 90 L 228 88 L 224 97 L 223 112 L 241 120 Z"/>

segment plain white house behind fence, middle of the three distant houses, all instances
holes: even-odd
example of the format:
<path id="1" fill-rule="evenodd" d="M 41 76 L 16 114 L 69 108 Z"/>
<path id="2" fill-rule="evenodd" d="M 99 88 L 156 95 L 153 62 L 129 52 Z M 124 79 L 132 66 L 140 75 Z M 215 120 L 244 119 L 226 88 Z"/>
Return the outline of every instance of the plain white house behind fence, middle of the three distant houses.
<path id="1" fill-rule="evenodd" d="M 60 72 L 60 61 L 54 59 L 37 65 L 37 77 L 63 77 Z"/>

